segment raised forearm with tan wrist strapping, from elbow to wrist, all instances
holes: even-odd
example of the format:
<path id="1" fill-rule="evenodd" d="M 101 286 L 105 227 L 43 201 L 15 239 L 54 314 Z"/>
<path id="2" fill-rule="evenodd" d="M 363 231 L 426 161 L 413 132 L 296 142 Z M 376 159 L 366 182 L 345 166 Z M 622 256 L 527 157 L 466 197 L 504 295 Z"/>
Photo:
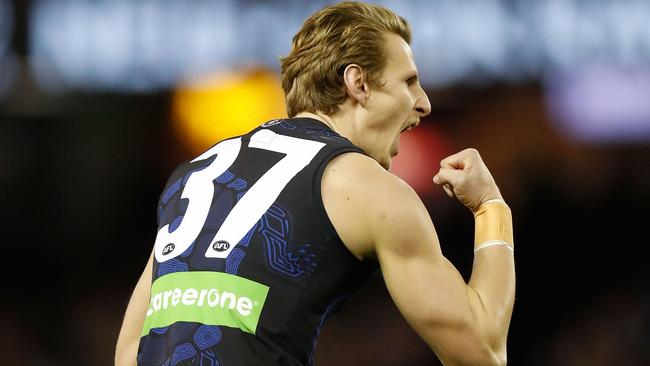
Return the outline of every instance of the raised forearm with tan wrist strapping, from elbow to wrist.
<path id="1" fill-rule="evenodd" d="M 475 254 L 470 291 L 481 331 L 494 352 L 505 356 L 515 295 L 512 216 L 505 203 L 483 205 L 475 214 Z"/>

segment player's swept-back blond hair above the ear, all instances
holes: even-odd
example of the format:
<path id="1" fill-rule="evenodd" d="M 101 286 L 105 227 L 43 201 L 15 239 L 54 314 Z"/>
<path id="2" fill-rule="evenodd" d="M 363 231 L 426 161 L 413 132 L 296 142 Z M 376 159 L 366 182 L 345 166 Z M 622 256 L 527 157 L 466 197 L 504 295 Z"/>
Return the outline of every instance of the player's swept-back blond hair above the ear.
<path id="1" fill-rule="evenodd" d="M 305 20 L 293 37 L 291 52 L 281 59 L 289 117 L 338 111 L 346 98 L 343 71 L 350 64 L 361 66 L 367 81 L 378 85 L 386 64 L 386 33 L 411 42 L 408 22 L 378 5 L 343 2 Z"/>

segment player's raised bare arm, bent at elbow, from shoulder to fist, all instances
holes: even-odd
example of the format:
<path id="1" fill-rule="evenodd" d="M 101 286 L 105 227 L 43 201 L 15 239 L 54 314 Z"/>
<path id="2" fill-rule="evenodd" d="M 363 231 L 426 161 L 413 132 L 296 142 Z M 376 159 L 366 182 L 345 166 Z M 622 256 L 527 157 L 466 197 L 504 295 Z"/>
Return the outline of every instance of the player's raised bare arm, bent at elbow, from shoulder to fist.
<path id="1" fill-rule="evenodd" d="M 463 203 L 473 203 L 468 206 L 472 211 L 489 211 L 492 229 L 483 223 L 486 216 L 479 215 L 476 229 L 481 242 L 476 244 L 484 244 L 485 235 L 500 235 L 488 240 L 512 245 L 512 229 L 507 230 L 511 221 L 501 217 L 506 211 L 509 215 L 506 206 L 482 206 L 501 196 L 478 153 L 464 150 L 443 160 L 442 166 L 437 184 L 447 185 L 448 193 Z M 471 279 L 465 283 L 442 255 L 417 194 L 371 159 L 359 154 L 335 159 L 326 169 L 322 190 L 328 215 L 344 243 L 359 258 L 379 260 L 398 309 L 445 365 L 506 363 L 515 289 L 511 247 L 490 242 L 499 245 L 478 250 Z M 504 229 L 499 234 L 494 234 L 495 220 Z"/>

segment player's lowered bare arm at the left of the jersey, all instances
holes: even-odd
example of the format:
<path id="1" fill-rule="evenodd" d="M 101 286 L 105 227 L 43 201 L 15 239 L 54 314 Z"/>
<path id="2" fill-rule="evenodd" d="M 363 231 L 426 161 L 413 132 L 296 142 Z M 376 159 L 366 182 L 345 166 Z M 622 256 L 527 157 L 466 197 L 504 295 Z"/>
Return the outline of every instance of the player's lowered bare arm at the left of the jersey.
<path id="1" fill-rule="evenodd" d="M 135 285 L 129 305 L 124 314 L 124 321 L 115 347 L 115 366 L 130 366 L 136 364 L 140 333 L 149 306 L 151 269 L 153 252 L 145 266 L 138 283 Z"/>

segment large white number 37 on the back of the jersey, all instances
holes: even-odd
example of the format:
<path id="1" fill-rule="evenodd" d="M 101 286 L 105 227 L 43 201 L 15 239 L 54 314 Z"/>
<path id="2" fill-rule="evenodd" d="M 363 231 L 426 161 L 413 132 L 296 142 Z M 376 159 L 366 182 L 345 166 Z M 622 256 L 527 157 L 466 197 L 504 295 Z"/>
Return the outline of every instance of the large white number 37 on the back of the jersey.
<path id="1" fill-rule="evenodd" d="M 311 162 L 323 146 L 325 144 L 321 142 L 279 135 L 271 130 L 256 132 L 251 137 L 249 148 L 284 153 L 286 156 L 264 173 L 235 204 L 210 241 L 205 256 L 228 257 L 244 235 L 271 207 L 289 181 Z M 172 233 L 169 232 L 169 225 L 158 231 L 155 242 L 158 262 L 182 254 L 196 240 L 210 212 L 214 196 L 212 182 L 235 162 L 240 149 L 241 139 L 227 140 L 193 160 L 194 162 L 217 155 L 206 169 L 193 173 L 188 179 L 181 197 L 189 199 L 189 204 L 181 225 Z M 217 251 L 213 245 L 218 241 L 226 241 L 230 245 L 225 250 L 221 246 L 222 251 Z M 170 243 L 173 245 L 170 246 Z"/>

